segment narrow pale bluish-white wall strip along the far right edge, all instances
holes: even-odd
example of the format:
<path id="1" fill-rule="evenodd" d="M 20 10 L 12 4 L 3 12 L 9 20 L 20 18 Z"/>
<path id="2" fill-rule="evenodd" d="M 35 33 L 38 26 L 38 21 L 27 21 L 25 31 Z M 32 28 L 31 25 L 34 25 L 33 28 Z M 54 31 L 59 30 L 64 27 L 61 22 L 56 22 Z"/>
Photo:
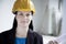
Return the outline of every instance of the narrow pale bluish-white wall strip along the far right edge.
<path id="1" fill-rule="evenodd" d="M 63 24 L 62 34 L 66 34 L 66 0 L 63 1 Z"/>

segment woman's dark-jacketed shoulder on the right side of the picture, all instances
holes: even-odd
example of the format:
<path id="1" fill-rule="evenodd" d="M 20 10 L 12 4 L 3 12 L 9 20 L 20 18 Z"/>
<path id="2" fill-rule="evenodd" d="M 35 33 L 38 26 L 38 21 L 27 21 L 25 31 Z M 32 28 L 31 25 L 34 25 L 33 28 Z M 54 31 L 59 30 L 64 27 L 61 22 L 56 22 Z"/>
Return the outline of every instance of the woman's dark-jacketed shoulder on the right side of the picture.
<path id="1" fill-rule="evenodd" d="M 41 34 L 34 32 L 34 31 L 31 31 L 32 33 L 32 36 L 34 37 L 34 42 L 37 43 L 37 44 L 43 44 L 43 37 Z"/>

